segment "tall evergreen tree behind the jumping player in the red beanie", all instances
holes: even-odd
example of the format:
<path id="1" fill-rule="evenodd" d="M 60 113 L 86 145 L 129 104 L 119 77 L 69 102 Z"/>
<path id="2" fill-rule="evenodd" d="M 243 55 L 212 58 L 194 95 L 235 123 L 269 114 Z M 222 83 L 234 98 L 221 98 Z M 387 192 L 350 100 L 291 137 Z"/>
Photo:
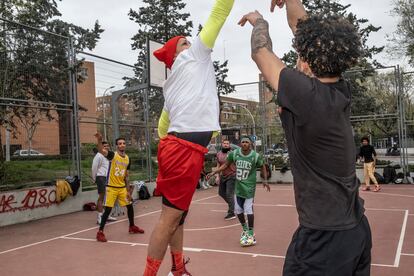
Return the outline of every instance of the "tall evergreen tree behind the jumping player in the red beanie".
<path id="1" fill-rule="evenodd" d="M 138 24 L 138 33 L 132 37 L 132 49 L 139 50 L 138 60 L 135 64 L 135 78 L 127 79 L 127 86 L 143 83 L 145 80 L 146 63 L 146 39 L 167 42 L 168 39 L 178 35 L 190 36 L 193 29 L 193 22 L 190 14 L 184 12 L 186 4 L 182 0 L 143 0 L 146 6 L 140 7 L 138 11 L 130 10 L 128 15 L 131 20 Z M 201 25 L 198 31 L 201 30 Z M 226 81 L 228 68 L 227 61 L 214 62 L 216 79 L 219 94 L 228 94 L 234 91 L 234 86 Z M 131 96 L 137 110 L 143 110 L 143 95 L 134 94 Z M 150 116 L 157 119 L 161 113 L 164 99 L 159 89 L 151 89 L 149 93 L 151 102 Z"/>

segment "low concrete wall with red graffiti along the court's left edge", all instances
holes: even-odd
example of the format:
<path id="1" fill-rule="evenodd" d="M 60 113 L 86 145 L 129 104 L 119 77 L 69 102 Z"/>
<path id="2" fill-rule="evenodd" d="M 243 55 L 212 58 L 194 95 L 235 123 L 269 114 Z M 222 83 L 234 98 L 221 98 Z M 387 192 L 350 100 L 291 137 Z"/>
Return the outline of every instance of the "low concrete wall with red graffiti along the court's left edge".
<path id="1" fill-rule="evenodd" d="M 0 193 L 0 227 L 77 212 L 96 199 L 96 191 L 78 192 L 57 204 L 55 186 Z"/>

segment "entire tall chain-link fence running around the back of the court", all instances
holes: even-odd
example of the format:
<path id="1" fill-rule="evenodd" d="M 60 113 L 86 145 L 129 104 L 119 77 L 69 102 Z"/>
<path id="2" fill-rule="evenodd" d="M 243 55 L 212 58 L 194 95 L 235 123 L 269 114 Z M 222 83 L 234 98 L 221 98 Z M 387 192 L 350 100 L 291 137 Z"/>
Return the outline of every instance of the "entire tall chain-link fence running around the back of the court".
<path id="1" fill-rule="evenodd" d="M 136 67 L 92 53 L 74 53 L 70 38 L 0 19 L 0 189 L 16 189 L 79 175 L 94 188 L 94 134 L 116 149 L 127 142 L 132 180 L 154 180 L 161 89 L 138 80 Z M 141 72 L 142 73 L 142 72 Z M 145 75 L 145 74 L 144 74 Z M 398 66 L 347 72 L 351 122 L 358 149 L 368 136 L 380 155 L 405 172 L 414 156 L 413 72 Z M 220 97 L 222 137 L 255 140 L 257 151 L 285 154 L 276 92 L 258 82 L 234 85 Z M 4 162 L 5 161 L 5 162 Z"/>

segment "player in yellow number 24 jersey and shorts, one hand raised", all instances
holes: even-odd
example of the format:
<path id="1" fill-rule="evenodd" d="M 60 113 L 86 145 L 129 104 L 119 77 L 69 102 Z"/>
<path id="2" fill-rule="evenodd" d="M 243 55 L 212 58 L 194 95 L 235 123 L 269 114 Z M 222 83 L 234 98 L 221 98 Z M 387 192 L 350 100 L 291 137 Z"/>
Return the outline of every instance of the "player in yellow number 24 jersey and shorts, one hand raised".
<path id="1" fill-rule="evenodd" d="M 103 233 L 106 220 L 114 207 L 115 201 L 118 200 L 120 206 L 126 206 L 128 210 L 129 219 L 129 233 L 137 234 L 144 233 L 144 230 L 139 228 L 134 223 L 134 208 L 132 206 L 132 187 L 128 183 L 128 171 L 130 168 L 130 160 L 125 153 L 125 139 L 116 139 L 116 152 L 108 151 L 102 146 L 102 135 L 95 134 L 98 143 L 98 151 L 109 160 L 108 181 L 106 184 L 106 194 L 104 199 L 105 212 L 102 215 L 99 231 L 96 234 L 96 240 L 106 242 L 107 239 Z"/>

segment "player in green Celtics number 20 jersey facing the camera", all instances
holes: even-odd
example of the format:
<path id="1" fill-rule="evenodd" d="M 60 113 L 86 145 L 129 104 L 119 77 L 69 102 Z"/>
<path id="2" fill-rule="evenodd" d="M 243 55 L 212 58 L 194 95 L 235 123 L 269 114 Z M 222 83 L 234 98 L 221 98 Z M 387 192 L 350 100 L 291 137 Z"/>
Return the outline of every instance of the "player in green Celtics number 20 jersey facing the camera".
<path id="1" fill-rule="evenodd" d="M 250 137 L 245 136 L 241 139 L 241 148 L 235 149 L 227 156 L 227 161 L 218 169 L 214 169 L 207 176 L 208 178 L 236 165 L 236 192 L 235 192 L 235 212 L 243 228 L 240 245 L 252 246 L 256 244 L 254 235 L 254 213 L 253 202 L 256 193 L 256 168 L 261 168 L 265 181 L 263 187 L 269 192 L 270 186 L 267 184 L 267 170 L 263 158 L 252 150 Z M 245 214 L 248 224 L 246 224 Z"/>

